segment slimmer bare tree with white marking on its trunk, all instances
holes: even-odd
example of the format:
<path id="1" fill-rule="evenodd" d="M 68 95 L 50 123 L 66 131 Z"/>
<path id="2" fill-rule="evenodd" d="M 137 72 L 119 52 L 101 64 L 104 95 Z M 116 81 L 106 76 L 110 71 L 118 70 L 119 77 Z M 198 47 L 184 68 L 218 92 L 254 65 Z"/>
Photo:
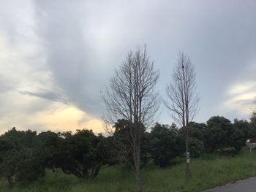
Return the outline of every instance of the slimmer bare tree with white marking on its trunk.
<path id="1" fill-rule="evenodd" d="M 185 53 L 179 53 L 178 62 L 166 87 L 167 101 L 164 101 L 165 107 L 167 107 L 167 110 L 170 110 L 173 119 L 185 129 L 187 174 L 190 172 L 188 126 L 199 110 L 199 96 L 196 93 L 195 77 L 195 70 L 189 57 Z"/>

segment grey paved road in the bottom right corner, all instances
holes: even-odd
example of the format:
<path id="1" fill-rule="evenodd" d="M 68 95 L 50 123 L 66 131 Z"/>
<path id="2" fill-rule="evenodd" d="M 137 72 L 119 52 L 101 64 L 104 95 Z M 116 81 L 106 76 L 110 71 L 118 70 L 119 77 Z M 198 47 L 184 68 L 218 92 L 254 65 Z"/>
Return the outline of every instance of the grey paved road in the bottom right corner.
<path id="1" fill-rule="evenodd" d="M 251 177 L 247 180 L 239 180 L 236 183 L 229 183 L 203 192 L 256 192 L 256 177 Z"/>

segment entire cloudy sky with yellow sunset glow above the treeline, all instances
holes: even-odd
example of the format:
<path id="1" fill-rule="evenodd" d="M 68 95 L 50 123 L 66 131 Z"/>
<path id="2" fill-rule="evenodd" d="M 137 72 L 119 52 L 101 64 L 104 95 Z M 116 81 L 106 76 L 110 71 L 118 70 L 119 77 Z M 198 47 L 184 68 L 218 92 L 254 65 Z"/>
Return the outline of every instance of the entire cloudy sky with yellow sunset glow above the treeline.
<path id="1" fill-rule="evenodd" d="M 256 97 L 255 0 L 0 0 L 0 134 L 104 132 L 102 90 L 129 50 L 147 45 L 165 87 L 180 51 L 200 111 L 249 120 Z M 159 123 L 173 120 L 160 108 Z"/>

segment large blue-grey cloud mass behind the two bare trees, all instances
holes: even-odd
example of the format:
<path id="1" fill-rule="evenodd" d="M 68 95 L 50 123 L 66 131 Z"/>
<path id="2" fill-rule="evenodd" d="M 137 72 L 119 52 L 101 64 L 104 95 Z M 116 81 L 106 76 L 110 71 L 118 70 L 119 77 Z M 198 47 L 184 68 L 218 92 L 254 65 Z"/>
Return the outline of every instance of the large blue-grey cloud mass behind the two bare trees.
<path id="1" fill-rule="evenodd" d="M 177 53 L 190 56 L 201 95 L 197 120 L 205 121 L 222 112 L 233 84 L 256 81 L 249 70 L 256 65 L 255 6 L 220 0 L 35 1 L 35 18 L 53 81 L 80 109 L 99 117 L 100 91 L 113 68 L 128 50 L 146 43 L 160 69 L 162 94 Z"/>

